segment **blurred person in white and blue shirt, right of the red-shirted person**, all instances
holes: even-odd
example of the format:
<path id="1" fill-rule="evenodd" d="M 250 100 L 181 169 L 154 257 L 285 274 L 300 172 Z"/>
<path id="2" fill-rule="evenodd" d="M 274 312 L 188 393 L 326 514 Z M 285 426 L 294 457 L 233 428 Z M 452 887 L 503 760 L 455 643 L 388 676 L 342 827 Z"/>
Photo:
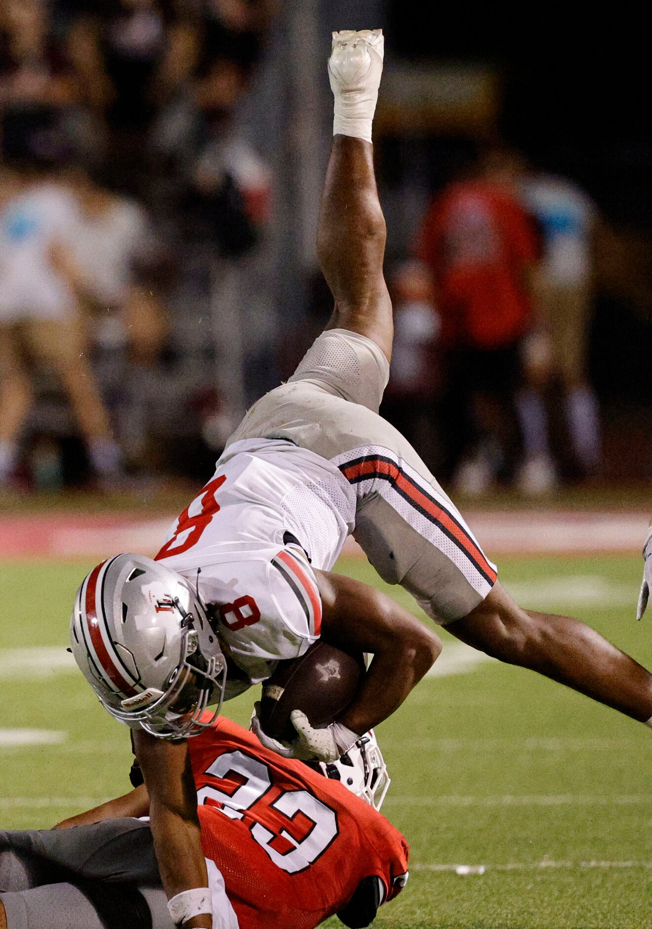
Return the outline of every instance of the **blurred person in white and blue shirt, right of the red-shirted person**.
<path id="1" fill-rule="evenodd" d="M 530 463 L 522 478 L 524 490 L 544 491 L 554 485 L 556 469 L 537 388 L 553 379 L 563 391 L 572 453 L 582 477 L 593 476 L 600 464 L 598 404 L 587 376 L 596 210 L 584 191 L 565 177 L 525 172 L 519 187 L 543 234 L 537 288 L 543 331 L 531 336 L 526 361 L 531 384 L 518 398 L 525 459 Z"/>

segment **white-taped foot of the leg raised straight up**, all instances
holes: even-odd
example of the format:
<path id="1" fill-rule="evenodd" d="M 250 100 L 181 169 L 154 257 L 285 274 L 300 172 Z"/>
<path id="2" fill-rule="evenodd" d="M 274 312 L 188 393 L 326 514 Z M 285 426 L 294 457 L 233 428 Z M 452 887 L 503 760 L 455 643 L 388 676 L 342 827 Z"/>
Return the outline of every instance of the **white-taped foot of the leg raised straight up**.
<path id="1" fill-rule="evenodd" d="M 384 41 L 380 29 L 333 33 L 328 78 L 335 98 L 334 136 L 371 141 L 383 70 Z"/>

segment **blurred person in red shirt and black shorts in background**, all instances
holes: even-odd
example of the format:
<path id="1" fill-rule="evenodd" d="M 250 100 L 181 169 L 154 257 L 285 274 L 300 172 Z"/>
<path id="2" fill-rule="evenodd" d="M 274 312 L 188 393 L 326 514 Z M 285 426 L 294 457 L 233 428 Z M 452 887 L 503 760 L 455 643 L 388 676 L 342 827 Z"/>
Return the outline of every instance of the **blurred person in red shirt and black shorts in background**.
<path id="1" fill-rule="evenodd" d="M 540 242 L 515 182 L 511 155 L 489 151 L 436 197 L 418 239 L 449 351 L 454 484 L 466 493 L 511 476 L 518 457 L 515 399 Z"/>

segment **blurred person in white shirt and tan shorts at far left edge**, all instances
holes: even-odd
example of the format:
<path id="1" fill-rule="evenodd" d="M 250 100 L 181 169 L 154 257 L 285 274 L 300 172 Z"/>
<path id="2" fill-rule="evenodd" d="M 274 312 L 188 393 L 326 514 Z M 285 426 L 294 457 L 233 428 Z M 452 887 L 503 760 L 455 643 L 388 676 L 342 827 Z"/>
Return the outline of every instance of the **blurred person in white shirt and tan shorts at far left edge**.
<path id="1" fill-rule="evenodd" d="M 21 428 L 33 399 L 31 365 L 56 374 L 86 440 L 91 464 L 108 481 L 121 474 L 83 337 L 78 303 L 60 259 L 79 221 L 70 190 L 47 175 L 13 174 L 0 201 L 0 485 L 19 460 Z"/>

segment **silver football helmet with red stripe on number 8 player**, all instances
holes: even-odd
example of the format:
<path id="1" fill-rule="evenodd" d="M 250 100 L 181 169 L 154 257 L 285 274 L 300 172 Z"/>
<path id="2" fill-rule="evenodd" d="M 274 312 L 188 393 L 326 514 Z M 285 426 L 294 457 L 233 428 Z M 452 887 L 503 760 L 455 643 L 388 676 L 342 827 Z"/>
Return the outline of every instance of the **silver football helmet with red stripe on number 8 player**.
<path id="1" fill-rule="evenodd" d="M 72 654 L 102 705 L 160 739 L 196 736 L 220 712 L 226 661 L 188 582 L 142 555 L 97 565 L 77 591 Z M 215 713 L 200 722 L 210 703 Z"/>

